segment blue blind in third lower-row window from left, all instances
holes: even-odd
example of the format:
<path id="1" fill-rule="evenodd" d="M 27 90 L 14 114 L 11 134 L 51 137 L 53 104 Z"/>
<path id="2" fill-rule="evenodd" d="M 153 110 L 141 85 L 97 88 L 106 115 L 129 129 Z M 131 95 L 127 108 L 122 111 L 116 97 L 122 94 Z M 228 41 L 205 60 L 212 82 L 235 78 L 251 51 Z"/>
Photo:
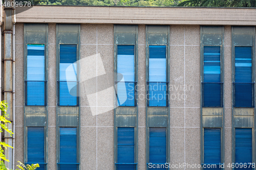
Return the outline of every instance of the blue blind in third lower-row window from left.
<path id="1" fill-rule="evenodd" d="M 136 169 L 134 140 L 134 128 L 117 128 L 117 169 Z"/>

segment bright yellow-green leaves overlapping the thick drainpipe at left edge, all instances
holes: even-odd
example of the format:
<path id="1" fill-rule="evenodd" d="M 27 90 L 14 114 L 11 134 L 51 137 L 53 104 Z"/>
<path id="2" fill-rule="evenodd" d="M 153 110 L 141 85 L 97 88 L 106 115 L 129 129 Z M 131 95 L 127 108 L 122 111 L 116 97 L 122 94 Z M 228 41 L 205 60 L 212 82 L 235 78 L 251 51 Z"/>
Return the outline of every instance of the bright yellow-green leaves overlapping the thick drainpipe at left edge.
<path id="1" fill-rule="evenodd" d="M 0 110 L 2 111 L 2 115 L 0 116 L 0 121 L 1 121 L 1 130 L 0 132 L 8 132 L 10 135 L 12 135 L 12 131 L 10 129 L 8 129 L 7 124 L 11 123 L 7 118 L 8 115 L 6 114 L 7 111 L 7 104 L 5 103 L 5 101 L 1 101 L 0 102 Z M 0 148 L 0 159 L 8 161 L 9 160 L 6 158 L 5 154 L 4 154 L 4 150 L 3 148 L 7 149 L 7 147 L 12 148 L 10 145 L 6 144 L 5 142 L 0 142 L 1 148 Z"/>

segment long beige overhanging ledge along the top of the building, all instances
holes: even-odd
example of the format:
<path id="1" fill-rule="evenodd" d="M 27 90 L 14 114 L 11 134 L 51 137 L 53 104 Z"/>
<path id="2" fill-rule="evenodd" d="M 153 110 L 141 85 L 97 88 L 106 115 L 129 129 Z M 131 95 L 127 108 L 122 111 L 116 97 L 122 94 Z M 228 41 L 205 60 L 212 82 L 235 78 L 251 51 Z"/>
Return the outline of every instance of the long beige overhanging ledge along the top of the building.
<path id="1" fill-rule="evenodd" d="M 18 23 L 256 25 L 255 8 L 35 6 L 19 10 Z"/>

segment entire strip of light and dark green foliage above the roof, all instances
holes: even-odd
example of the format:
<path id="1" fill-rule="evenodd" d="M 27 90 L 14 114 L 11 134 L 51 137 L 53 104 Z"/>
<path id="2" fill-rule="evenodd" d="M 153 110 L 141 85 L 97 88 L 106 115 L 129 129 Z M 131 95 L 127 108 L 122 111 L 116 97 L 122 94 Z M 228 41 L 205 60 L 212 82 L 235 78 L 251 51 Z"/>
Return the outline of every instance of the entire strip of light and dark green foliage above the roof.
<path id="1" fill-rule="evenodd" d="M 29 0 L 30 1 L 30 0 Z M 256 7 L 256 0 L 33 0 L 40 5 Z"/>

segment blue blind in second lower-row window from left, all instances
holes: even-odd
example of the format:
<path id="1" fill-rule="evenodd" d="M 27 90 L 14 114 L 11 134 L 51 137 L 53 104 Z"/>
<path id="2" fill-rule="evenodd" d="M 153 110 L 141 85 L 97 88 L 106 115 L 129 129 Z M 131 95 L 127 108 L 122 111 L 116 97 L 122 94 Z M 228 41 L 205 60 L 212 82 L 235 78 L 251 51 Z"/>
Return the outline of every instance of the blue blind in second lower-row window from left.
<path id="1" fill-rule="evenodd" d="M 63 164 L 62 164 L 63 163 Z M 59 128 L 59 170 L 78 169 L 77 128 Z"/>

